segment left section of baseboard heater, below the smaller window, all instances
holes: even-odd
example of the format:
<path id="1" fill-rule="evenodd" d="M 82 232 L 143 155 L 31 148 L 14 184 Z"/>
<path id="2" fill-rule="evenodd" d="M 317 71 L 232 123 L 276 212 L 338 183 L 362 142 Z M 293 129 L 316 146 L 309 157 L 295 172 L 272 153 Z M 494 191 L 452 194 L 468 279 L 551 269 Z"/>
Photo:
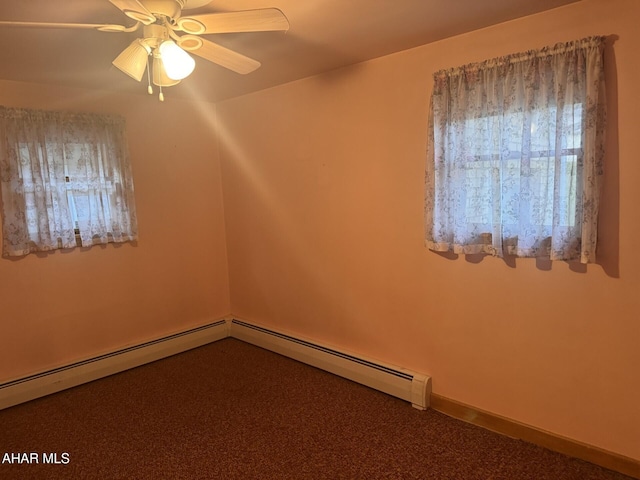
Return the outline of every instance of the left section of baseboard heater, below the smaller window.
<path id="1" fill-rule="evenodd" d="M 219 320 L 64 367 L 2 383 L 0 384 L 0 410 L 185 352 L 228 336 L 229 324 L 226 320 Z"/>

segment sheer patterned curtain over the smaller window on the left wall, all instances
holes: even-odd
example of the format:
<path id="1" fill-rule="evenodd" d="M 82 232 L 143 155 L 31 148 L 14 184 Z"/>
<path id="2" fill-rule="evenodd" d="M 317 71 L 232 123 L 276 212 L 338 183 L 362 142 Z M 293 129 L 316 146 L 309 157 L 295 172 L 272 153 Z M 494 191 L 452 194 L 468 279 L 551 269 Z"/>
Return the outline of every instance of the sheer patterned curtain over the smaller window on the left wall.
<path id="1" fill-rule="evenodd" d="M 4 256 L 137 239 L 120 117 L 0 107 L 0 189 Z"/>

